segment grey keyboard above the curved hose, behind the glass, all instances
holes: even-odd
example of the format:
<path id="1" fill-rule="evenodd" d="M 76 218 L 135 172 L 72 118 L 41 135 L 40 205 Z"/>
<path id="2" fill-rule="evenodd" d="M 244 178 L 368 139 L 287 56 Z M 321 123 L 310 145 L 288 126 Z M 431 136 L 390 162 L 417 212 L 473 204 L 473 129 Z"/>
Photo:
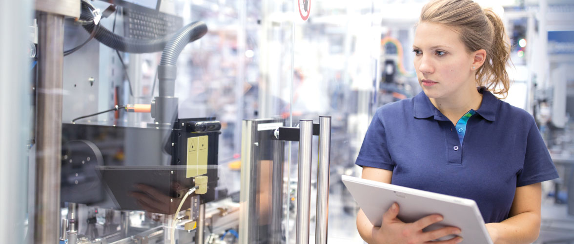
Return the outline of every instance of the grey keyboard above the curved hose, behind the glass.
<path id="1" fill-rule="evenodd" d="M 122 7 L 125 36 L 135 39 L 153 39 L 174 33 L 183 26 L 183 18 L 160 11 Z"/>

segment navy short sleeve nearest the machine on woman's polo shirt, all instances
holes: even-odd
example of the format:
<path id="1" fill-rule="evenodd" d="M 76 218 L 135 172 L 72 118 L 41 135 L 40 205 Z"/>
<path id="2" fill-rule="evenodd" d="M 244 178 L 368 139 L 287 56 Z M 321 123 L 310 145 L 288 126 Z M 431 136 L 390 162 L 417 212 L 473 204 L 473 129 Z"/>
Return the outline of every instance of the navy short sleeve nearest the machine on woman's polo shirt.
<path id="1" fill-rule="evenodd" d="M 385 127 L 380 113 L 381 109 L 373 117 L 367 134 L 364 135 L 363 145 L 360 147 L 355 164 L 392 171 L 394 164 L 387 147 Z"/>

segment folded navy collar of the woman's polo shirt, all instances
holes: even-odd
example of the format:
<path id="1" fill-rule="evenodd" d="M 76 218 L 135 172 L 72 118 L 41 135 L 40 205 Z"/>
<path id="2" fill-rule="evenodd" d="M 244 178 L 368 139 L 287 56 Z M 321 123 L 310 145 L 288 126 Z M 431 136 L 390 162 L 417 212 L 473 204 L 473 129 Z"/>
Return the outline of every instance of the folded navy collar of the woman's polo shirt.
<path id="1" fill-rule="evenodd" d="M 487 91 L 484 87 L 479 87 L 478 92 L 482 94 L 482 103 L 480 104 L 480 108 L 476 110 L 476 113 L 488 121 L 494 121 L 498 111 L 498 98 L 492 95 L 492 93 Z M 413 102 L 414 118 L 426 119 L 434 117 L 439 121 L 448 120 L 448 118 L 440 113 L 440 111 L 430 102 L 424 91 L 421 91 L 418 95 L 414 96 Z"/>

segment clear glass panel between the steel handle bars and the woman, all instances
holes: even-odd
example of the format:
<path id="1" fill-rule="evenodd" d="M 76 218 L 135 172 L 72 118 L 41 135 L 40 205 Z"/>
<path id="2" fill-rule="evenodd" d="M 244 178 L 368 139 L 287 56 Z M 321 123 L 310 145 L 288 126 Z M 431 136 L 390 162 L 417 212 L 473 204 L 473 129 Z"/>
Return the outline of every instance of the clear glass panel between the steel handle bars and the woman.
<path id="1" fill-rule="evenodd" d="M 292 115 L 313 119 L 328 115 L 331 121 L 331 165 L 329 172 L 328 240 L 356 243 L 360 239 L 355 226 L 357 208 L 344 188 L 342 174 L 356 175 L 356 154 L 371 113 L 377 106 L 381 59 L 380 6 L 373 1 L 356 1 L 352 5 L 312 2 L 309 20 L 296 21 Z M 312 182 L 319 172 L 317 158 L 319 137 L 313 137 Z M 298 174 L 297 148 L 291 152 L 291 184 Z M 316 236 L 317 186 L 311 192 L 311 242 Z M 295 221 L 294 214 L 290 221 Z M 295 223 L 298 224 L 298 223 Z M 290 228 L 290 236 L 296 235 Z M 290 243 L 295 243 L 290 238 Z"/>

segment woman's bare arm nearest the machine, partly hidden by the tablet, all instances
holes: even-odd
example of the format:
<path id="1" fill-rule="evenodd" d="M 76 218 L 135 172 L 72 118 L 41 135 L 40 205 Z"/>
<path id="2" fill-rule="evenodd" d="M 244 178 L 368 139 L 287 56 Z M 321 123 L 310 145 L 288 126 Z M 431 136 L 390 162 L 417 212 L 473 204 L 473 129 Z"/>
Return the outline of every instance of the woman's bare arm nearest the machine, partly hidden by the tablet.
<path id="1" fill-rule="evenodd" d="M 391 178 L 393 177 L 393 171 L 363 166 L 361 177 L 367 180 L 376 180 L 390 184 Z M 369 219 L 367 219 L 367 216 L 364 215 L 363 210 L 359 210 L 357 214 L 357 230 L 359 230 L 359 235 L 364 241 L 367 243 L 374 243 L 373 234 L 376 230 L 374 230 L 374 226 L 371 224 Z"/>

